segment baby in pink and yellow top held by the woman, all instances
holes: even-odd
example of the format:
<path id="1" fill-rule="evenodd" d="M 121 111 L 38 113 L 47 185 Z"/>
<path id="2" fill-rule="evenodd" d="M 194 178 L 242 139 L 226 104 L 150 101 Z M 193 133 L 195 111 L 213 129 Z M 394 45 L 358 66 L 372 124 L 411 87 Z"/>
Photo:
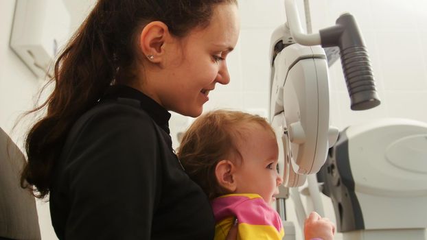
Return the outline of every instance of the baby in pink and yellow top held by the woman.
<path id="1" fill-rule="evenodd" d="M 235 224 L 238 239 L 284 237 L 281 219 L 270 207 L 283 181 L 277 141 L 264 118 L 227 110 L 202 115 L 185 132 L 178 158 L 211 201 L 215 239 L 226 239 Z M 312 213 L 305 223 L 305 239 L 333 239 L 328 219 Z"/>

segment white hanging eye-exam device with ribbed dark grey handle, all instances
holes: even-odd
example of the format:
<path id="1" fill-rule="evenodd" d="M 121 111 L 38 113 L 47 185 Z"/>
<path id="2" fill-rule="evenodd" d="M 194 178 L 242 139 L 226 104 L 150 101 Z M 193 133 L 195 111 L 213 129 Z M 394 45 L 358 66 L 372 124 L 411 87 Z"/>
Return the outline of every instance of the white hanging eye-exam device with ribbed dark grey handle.
<path id="1" fill-rule="evenodd" d="M 328 149 L 336 143 L 338 137 L 338 129 L 329 125 L 328 58 L 322 47 L 339 48 L 352 110 L 374 108 L 380 104 L 380 99 L 376 93 L 365 43 L 351 14 L 341 15 L 336 25 L 321 29 L 319 33 L 304 34 L 295 0 L 285 0 L 285 10 L 288 22 L 275 30 L 270 41 L 269 117 L 281 148 L 279 156 L 283 167 L 280 167 L 280 171 L 284 176 L 284 186 L 299 187 L 308 178 L 310 195 L 318 197 L 319 189 L 313 174 L 321 169 Z M 282 197 L 286 196 L 285 192 Z M 313 202 L 314 205 L 319 204 L 316 200 Z M 277 205 L 282 214 L 284 210 L 281 203 L 279 200 Z M 296 207 L 299 212 L 303 212 L 302 206 Z M 315 209 L 321 207 L 315 206 Z M 343 209 L 340 210 L 338 206 L 336 211 L 340 213 Z M 425 228 L 424 222 L 418 220 L 421 219 L 415 219 L 418 224 L 413 226 Z M 398 225 L 393 225 L 393 228 L 410 226 Z M 351 232 L 345 236 L 347 239 L 374 239 L 368 237 L 367 232 L 374 229 L 378 234 L 378 228 L 373 226 L 355 228 L 362 232 Z M 376 236 L 377 239 L 383 238 Z M 386 234 L 380 236 L 388 237 Z"/>

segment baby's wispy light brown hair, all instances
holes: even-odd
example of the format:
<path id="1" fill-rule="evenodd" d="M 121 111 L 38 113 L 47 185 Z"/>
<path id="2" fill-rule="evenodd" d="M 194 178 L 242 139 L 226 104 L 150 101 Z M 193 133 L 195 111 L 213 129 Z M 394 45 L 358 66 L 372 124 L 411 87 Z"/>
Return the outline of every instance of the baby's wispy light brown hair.
<path id="1" fill-rule="evenodd" d="M 228 193 L 216 180 L 216 165 L 224 159 L 237 164 L 242 161 L 239 146 L 254 124 L 261 125 L 275 136 L 273 128 L 263 117 L 230 110 L 207 112 L 198 117 L 183 135 L 178 159 L 209 200 Z"/>

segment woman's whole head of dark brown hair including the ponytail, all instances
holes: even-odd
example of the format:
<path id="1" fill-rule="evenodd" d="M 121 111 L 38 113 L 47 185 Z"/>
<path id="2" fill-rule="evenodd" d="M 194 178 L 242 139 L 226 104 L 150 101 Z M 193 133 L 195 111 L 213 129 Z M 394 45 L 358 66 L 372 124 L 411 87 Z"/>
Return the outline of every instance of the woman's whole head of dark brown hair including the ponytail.
<path id="1" fill-rule="evenodd" d="M 162 21 L 176 37 L 209 25 L 214 6 L 237 0 L 99 0 L 54 65 L 54 91 L 32 112 L 47 108 L 27 134 L 28 162 L 21 186 L 43 198 L 52 169 L 76 120 L 115 82 L 136 77 L 137 36 L 150 21 Z"/>

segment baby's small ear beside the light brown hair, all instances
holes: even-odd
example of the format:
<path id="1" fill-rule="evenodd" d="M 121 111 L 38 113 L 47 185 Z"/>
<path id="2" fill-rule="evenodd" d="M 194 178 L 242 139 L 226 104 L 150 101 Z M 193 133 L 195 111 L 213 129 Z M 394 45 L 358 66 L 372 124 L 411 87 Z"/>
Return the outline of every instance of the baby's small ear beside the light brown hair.
<path id="1" fill-rule="evenodd" d="M 230 193 L 234 193 L 237 188 L 237 183 L 233 174 L 235 173 L 235 165 L 231 160 L 220 160 L 216 164 L 215 176 L 218 184 Z"/>

